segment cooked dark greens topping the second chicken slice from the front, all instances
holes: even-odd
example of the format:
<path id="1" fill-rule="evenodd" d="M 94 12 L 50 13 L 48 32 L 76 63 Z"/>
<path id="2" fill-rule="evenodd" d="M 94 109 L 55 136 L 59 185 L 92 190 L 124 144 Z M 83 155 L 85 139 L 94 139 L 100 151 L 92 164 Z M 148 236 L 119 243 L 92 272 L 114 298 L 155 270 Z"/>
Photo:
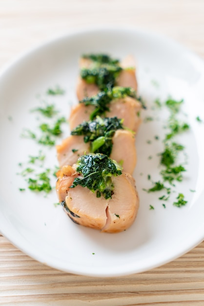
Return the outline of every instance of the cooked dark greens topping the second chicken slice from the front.
<path id="1" fill-rule="evenodd" d="M 71 131 L 71 135 L 83 135 L 84 142 L 90 142 L 91 153 L 103 153 L 109 156 L 113 146 L 112 137 L 119 129 L 123 129 L 122 119 L 97 116 L 93 121 L 83 121 Z"/>

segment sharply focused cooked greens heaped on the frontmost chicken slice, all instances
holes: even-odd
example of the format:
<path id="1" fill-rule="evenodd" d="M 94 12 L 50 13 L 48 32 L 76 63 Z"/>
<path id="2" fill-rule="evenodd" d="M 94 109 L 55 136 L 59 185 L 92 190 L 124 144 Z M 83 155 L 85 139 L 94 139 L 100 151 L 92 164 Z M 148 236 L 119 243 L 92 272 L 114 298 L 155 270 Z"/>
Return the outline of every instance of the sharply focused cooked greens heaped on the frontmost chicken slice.
<path id="1" fill-rule="evenodd" d="M 100 153 L 82 155 L 77 161 L 76 170 L 82 177 L 76 177 L 70 188 L 81 185 L 96 192 L 97 197 L 102 195 L 105 199 L 111 198 L 114 193 L 111 176 L 122 174 L 118 163 Z"/>

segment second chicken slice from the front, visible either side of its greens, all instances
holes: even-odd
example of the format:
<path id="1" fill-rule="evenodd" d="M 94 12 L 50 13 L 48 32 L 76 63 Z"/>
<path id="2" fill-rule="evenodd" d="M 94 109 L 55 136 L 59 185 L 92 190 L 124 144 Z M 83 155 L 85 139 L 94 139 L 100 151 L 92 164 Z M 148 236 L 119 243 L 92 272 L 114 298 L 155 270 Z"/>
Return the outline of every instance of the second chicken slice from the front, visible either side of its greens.
<path id="1" fill-rule="evenodd" d="M 122 164 L 124 172 L 132 174 L 137 162 L 134 134 L 126 130 L 117 130 L 113 135 L 112 142 L 110 158 Z M 60 167 L 72 166 L 84 152 L 90 153 L 90 144 L 83 141 L 83 136 L 71 135 L 56 148 Z M 75 152 L 75 150 L 78 151 Z"/>

